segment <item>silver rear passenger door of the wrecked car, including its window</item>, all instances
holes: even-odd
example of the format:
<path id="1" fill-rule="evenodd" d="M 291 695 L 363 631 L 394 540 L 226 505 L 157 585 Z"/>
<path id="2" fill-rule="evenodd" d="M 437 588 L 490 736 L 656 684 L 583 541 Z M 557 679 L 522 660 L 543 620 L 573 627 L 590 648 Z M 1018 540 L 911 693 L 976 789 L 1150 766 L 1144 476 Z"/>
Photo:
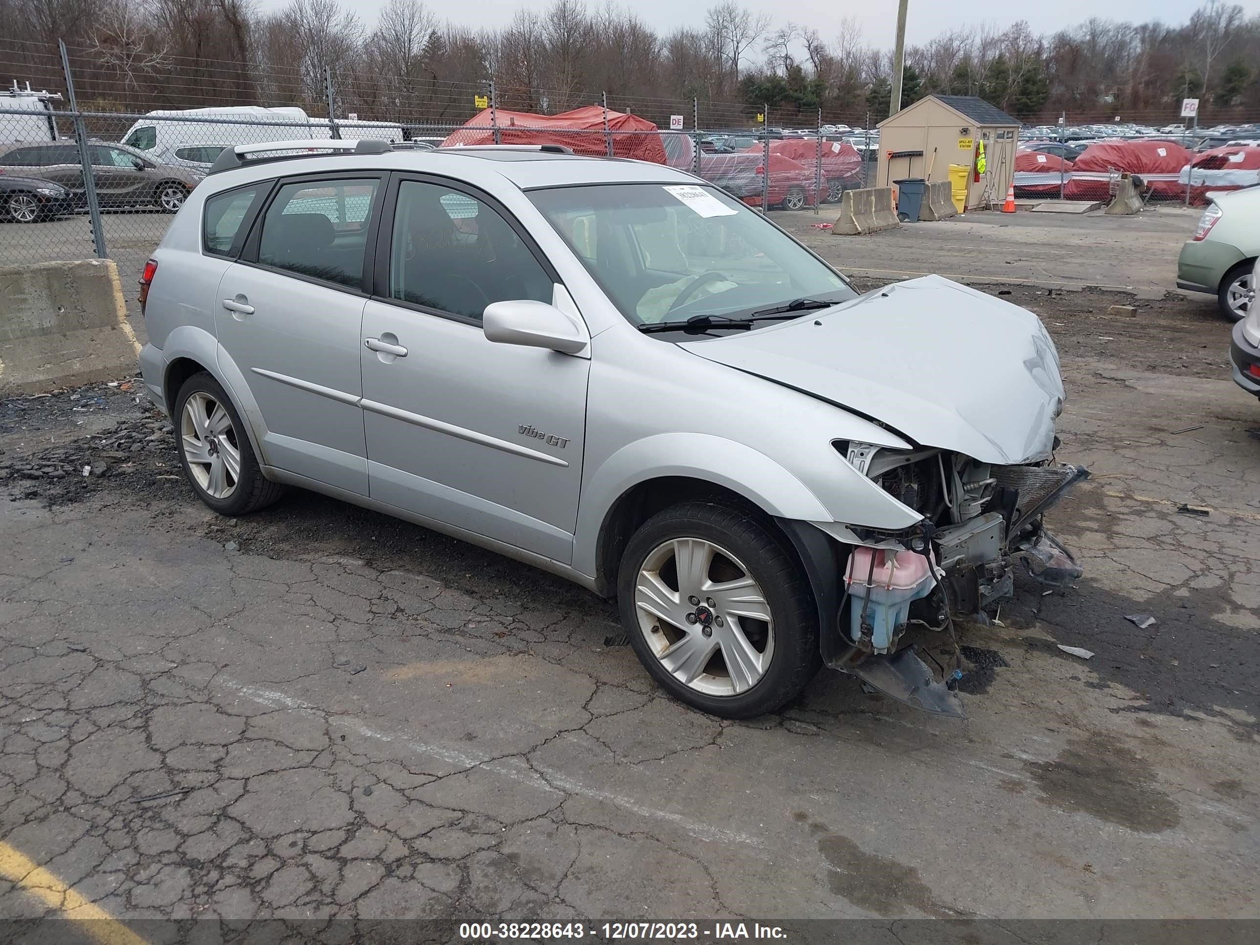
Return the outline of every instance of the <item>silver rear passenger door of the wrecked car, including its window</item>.
<path id="1" fill-rule="evenodd" d="M 244 377 L 278 469 L 367 495 L 360 321 L 382 176 L 281 179 L 219 282 L 219 345 Z"/>

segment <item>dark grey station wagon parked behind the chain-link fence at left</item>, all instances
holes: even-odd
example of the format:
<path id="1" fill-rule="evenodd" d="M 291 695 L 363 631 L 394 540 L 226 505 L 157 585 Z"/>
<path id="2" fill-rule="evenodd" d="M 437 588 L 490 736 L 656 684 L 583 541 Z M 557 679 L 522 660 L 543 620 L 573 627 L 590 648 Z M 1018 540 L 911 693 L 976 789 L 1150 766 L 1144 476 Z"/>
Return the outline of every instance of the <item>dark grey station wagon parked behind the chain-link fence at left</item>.
<path id="1" fill-rule="evenodd" d="M 158 164 L 134 147 L 112 141 L 89 141 L 92 179 L 103 208 L 145 207 L 174 213 L 204 175 L 188 168 Z M 83 165 L 74 141 L 0 145 L 0 173 L 50 180 L 71 192 L 76 205 L 86 205 Z"/>

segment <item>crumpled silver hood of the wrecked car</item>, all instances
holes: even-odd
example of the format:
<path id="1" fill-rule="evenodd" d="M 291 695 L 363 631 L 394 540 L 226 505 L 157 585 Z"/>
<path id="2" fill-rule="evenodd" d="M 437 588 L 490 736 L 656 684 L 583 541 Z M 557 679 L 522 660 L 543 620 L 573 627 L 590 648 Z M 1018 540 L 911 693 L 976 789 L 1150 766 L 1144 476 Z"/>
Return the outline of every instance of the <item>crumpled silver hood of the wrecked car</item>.
<path id="1" fill-rule="evenodd" d="M 1050 456 L 1063 404 L 1058 353 L 1041 320 L 940 276 L 680 346 L 982 462 Z"/>

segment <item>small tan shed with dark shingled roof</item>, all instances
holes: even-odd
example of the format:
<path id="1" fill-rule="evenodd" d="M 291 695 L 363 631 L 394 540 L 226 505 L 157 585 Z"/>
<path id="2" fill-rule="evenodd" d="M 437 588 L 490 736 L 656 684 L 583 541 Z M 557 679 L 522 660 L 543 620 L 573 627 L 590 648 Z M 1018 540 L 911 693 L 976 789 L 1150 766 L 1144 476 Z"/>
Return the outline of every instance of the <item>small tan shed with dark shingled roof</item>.
<path id="1" fill-rule="evenodd" d="M 879 122 L 874 186 L 902 178 L 949 180 L 949 168 L 968 169 L 966 209 L 1000 204 L 1016 179 L 1019 121 L 975 96 L 927 96 Z M 975 180 L 984 141 L 985 170 Z"/>

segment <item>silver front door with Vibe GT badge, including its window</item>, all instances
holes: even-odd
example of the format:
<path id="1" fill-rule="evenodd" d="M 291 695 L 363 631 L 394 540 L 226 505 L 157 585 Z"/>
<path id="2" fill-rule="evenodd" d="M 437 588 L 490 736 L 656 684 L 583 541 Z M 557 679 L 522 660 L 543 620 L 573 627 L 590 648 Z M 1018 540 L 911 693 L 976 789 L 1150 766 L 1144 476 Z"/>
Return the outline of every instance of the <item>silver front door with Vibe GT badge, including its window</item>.
<path id="1" fill-rule="evenodd" d="M 383 219 L 360 346 L 372 498 L 568 563 L 590 360 L 493 343 L 481 314 L 576 307 L 484 193 L 396 179 Z"/>

